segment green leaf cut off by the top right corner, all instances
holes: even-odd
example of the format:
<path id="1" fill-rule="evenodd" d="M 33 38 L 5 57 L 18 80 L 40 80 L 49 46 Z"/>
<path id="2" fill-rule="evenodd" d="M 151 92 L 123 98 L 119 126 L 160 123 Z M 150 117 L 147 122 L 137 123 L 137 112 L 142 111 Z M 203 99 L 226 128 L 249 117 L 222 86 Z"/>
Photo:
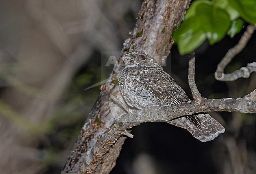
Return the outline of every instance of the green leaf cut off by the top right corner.
<path id="1" fill-rule="evenodd" d="M 256 23 L 256 0 L 228 0 L 234 7 L 241 18 L 246 22 L 254 25 Z"/>

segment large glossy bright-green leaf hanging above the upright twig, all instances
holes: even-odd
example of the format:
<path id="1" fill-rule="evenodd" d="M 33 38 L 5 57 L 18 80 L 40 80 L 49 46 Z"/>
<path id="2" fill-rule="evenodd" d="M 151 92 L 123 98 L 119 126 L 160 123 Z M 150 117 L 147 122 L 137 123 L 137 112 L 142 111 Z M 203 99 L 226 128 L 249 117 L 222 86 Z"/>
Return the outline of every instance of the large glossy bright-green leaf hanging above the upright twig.
<path id="1" fill-rule="evenodd" d="M 199 0 L 194 3 L 187 11 L 185 20 L 173 33 L 182 55 L 198 48 L 206 38 L 210 44 L 219 42 L 230 27 L 230 17 L 223 9 L 214 6 L 211 1 Z"/>

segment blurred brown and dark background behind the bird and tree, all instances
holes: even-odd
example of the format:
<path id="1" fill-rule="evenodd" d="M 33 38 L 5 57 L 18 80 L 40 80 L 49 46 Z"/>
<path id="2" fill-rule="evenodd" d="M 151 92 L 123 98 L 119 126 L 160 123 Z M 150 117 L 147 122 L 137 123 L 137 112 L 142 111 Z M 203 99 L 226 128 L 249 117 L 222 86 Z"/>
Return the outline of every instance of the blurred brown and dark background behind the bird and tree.
<path id="1" fill-rule="evenodd" d="M 89 87 L 107 79 L 111 71 L 102 63 L 109 59 L 102 51 L 121 50 L 141 3 L 0 1 L 1 174 L 57 174 L 62 170 L 100 92 L 100 85 Z M 196 82 L 204 97 L 243 97 L 256 88 L 255 73 L 235 82 L 214 78 L 217 64 L 244 31 L 241 27 L 232 38 L 223 35 L 213 45 L 204 40 L 197 46 Z M 228 65 L 227 73 L 255 61 L 255 40 L 254 34 Z M 187 63 L 188 56 L 180 56 L 174 45 L 164 69 L 192 98 Z M 165 123 L 136 126 L 134 138 L 124 143 L 111 173 L 255 173 L 256 115 L 210 114 L 226 132 L 208 143 Z"/>

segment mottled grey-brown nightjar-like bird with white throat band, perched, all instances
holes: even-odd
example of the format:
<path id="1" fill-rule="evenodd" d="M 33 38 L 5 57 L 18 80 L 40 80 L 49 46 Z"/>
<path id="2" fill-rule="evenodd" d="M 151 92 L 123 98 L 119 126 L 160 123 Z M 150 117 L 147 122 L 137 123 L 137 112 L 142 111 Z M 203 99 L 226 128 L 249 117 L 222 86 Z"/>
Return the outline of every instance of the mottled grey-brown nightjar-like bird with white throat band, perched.
<path id="1" fill-rule="evenodd" d="M 141 51 L 123 55 L 124 69 L 118 79 L 124 100 L 141 109 L 147 105 L 173 105 L 189 101 L 184 90 L 153 57 Z M 179 117 L 168 123 L 187 129 L 202 142 L 213 140 L 225 128 L 209 114 Z"/>

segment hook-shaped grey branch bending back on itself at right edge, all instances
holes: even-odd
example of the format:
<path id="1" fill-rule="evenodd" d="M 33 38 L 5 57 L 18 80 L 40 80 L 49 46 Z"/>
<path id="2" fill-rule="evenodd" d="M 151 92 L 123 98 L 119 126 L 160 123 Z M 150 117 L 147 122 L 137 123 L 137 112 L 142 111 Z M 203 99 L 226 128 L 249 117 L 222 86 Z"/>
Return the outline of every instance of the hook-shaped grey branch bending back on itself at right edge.
<path id="1" fill-rule="evenodd" d="M 219 62 L 217 66 L 217 70 L 215 72 L 215 79 L 218 81 L 235 81 L 236 79 L 243 77 L 248 78 L 250 77 L 250 73 L 255 71 L 255 64 L 252 63 L 250 67 L 243 67 L 240 70 L 236 70 L 233 73 L 225 74 L 224 69 L 226 66 L 231 62 L 231 60 L 240 53 L 248 43 L 249 39 L 252 37 L 254 30 L 256 29 L 256 24 L 254 26 L 249 25 L 245 33 L 243 33 L 242 37 L 240 38 L 239 42 L 233 48 L 229 49 L 226 55 L 223 57 L 221 62 Z"/>

